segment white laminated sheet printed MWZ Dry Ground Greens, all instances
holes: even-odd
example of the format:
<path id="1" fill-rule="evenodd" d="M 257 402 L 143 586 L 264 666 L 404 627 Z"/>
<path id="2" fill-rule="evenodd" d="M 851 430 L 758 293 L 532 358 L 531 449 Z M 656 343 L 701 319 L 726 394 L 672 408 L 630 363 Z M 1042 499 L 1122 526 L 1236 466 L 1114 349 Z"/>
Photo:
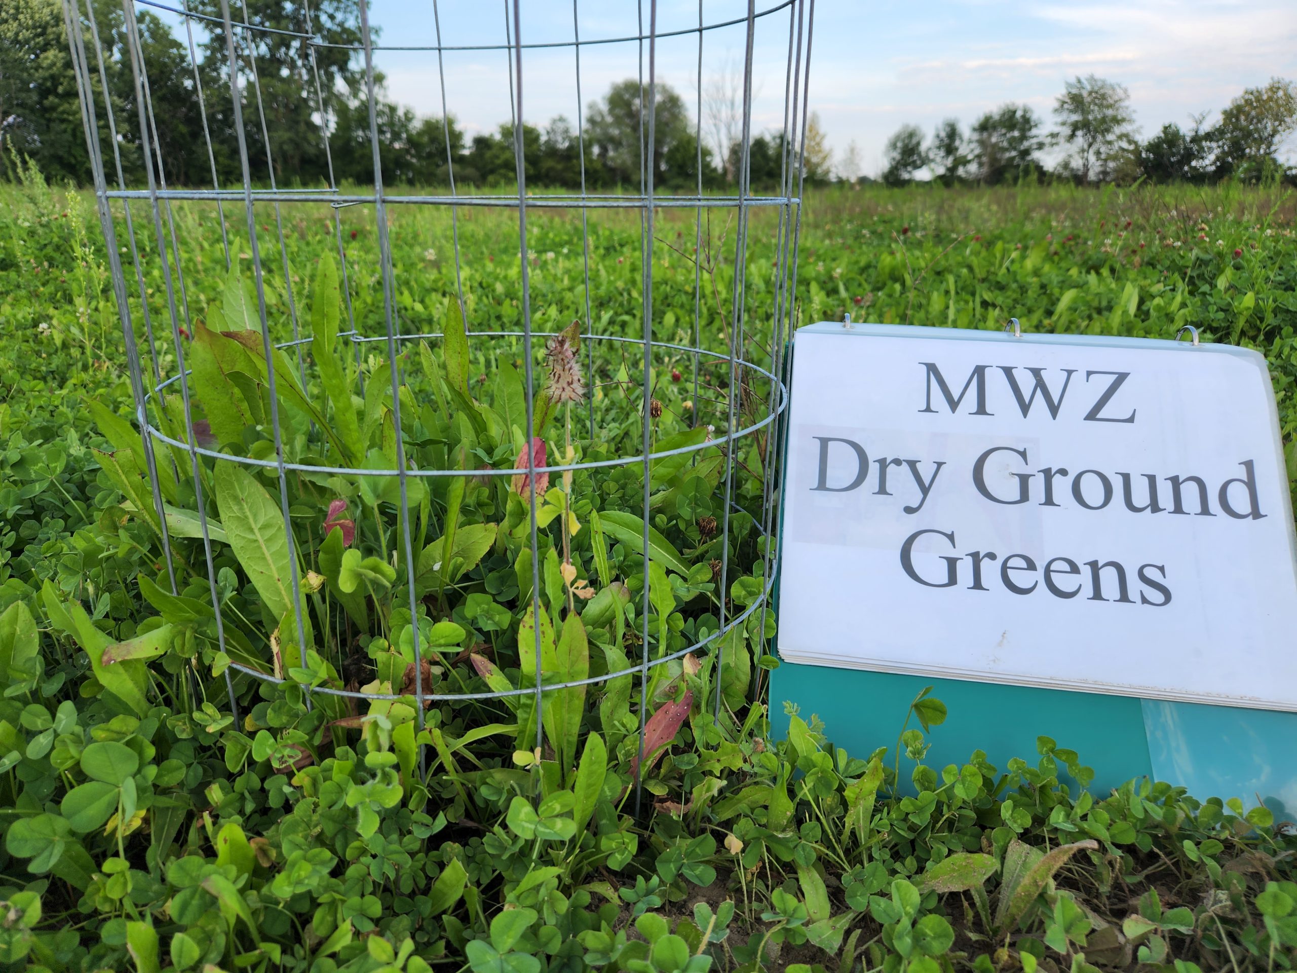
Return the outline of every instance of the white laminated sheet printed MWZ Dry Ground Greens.
<path id="1" fill-rule="evenodd" d="M 785 662 L 1297 711 L 1254 352 L 813 324 L 785 477 Z"/>

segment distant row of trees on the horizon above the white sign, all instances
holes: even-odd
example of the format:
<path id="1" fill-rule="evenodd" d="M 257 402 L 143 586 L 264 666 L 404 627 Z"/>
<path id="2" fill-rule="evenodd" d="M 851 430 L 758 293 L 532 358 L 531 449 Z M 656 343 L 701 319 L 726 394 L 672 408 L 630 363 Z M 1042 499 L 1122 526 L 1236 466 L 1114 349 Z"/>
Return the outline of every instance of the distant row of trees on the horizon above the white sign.
<path id="1" fill-rule="evenodd" d="M 1297 131 L 1297 84 L 1281 78 L 1246 88 L 1211 126 L 1204 113 L 1187 128 L 1163 125 L 1145 141 L 1136 134 L 1126 87 L 1093 74 L 1065 84 L 1053 117 L 1057 126 L 1047 131 L 1029 105 L 1005 104 L 968 131 L 956 118 L 944 119 L 931 136 L 904 125 L 887 140 L 881 178 L 904 184 L 926 171 L 947 186 L 1045 176 L 1078 183 L 1297 179 L 1297 169 L 1279 158 L 1284 141 Z M 1043 160 L 1051 149 L 1057 156 L 1052 167 Z M 851 171 L 852 160 L 848 149 L 847 179 L 857 175 Z"/>

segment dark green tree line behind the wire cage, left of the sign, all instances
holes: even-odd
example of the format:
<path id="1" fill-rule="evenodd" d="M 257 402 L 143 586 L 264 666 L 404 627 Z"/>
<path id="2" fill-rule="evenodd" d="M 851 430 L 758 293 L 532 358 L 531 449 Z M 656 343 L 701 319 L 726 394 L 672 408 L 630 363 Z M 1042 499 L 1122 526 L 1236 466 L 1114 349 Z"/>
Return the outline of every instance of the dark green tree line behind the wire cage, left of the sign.
<path id="1" fill-rule="evenodd" d="M 87 17 L 92 1 L 80 0 Z M 189 9 L 220 18 L 219 0 L 191 0 Z M 123 174 L 128 183 L 140 184 L 143 140 L 125 13 L 109 0 L 97 0 L 93 13 Z M 329 180 L 332 170 L 335 183 L 370 183 L 370 104 L 362 54 L 354 48 L 361 40 L 357 0 L 316 0 L 310 17 L 307 21 L 303 4 L 268 4 L 257 12 L 257 23 L 271 31 L 235 31 L 252 176 L 258 183 L 274 175 L 281 186 L 318 186 Z M 149 10 L 139 10 L 136 21 L 157 119 L 156 153 L 167 183 L 210 186 L 213 173 L 222 186 L 241 183 L 224 32 L 215 25 L 210 34 L 195 31 L 191 39 Z M 88 23 L 83 34 L 99 105 L 100 144 L 113 178 L 113 135 Z M 323 43 L 309 47 L 294 34 L 314 34 Z M 454 178 L 457 186 L 493 186 L 516 180 L 512 125 L 470 138 L 453 117 L 420 118 L 388 100 L 381 93 L 381 77 L 377 80 L 375 115 L 385 183 L 449 186 Z M 739 163 L 737 90 L 733 77 L 708 86 L 704 119 L 699 119 L 707 128 L 699 139 L 699 122 L 690 118 L 684 99 L 669 86 L 658 84 L 655 145 L 646 166 L 652 166 L 659 188 L 696 188 L 699 176 L 704 189 L 733 186 Z M 638 187 L 646 174 L 641 171 L 641 144 L 647 143 L 647 110 L 641 101 L 646 100 L 647 91 L 630 79 L 613 84 L 588 106 L 580 132 L 563 115 L 543 127 L 524 122 L 528 184 L 578 188 L 584 180 L 591 191 Z M 813 182 L 827 180 L 830 153 L 818 119 L 812 119 L 809 136 L 807 175 Z M 0 175 L 12 175 L 21 156 L 51 179 L 91 180 L 60 0 L 0 0 Z M 752 139 L 755 188 L 773 188 L 782 178 L 783 162 L 782 134 Z"/>

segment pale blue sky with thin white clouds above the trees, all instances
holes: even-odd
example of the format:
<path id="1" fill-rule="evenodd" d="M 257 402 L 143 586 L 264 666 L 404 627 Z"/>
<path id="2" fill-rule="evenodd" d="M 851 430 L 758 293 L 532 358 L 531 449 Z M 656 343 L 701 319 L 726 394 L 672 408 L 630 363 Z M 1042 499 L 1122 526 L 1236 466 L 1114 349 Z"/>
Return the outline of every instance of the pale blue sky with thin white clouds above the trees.
<path id="1" fill-rule="evenodd" d="M 650 0 L 641 0 L 645 31 Z M 757 0 L 757 9 L 779 0 Z M 582 39 L 638 32 L 637 3 L 576 0 Z M 256 4 L 253 4 L 256 9 Z M 374 0 L 371 18 L 385 45 L 434 43 L 431 0 Z M 497 44 L 505 39 L 506 0 L 438 0 L 445 44 Z M 715 23 L 742 18 L 744 0 L 704 0 Z M 659 0 L 658 30 L 696 26 L 698 0 Z M 524 43 L 560 43 L 573 35 L 573 0 L 524 0 Z M 754 61 L 754 127 L 778 128 L 789 12 L 759 19 Z M 703 86 L 742 65 L 742 25 L 709 31 Z M 696 102 L 696 34 L 663 38 L 659 77 L 690 105 Z M 634 77 L 638 45 L 585 45 L 581 101 L 586 105 Z M 379 70 L 392 97 L 418 113 L 441 114 L 437 57 L 432 52 L 380 51 Z M 647 67 L 645 69 L 647 71 Z M 811 108 L 820 113 L 837 158 L 855 143 L 861 171 L 882 169 L 883 145 L 900 125 L 926 131 L 946 117 L 969 122 L 1004 101 L 1031 105 L 1049 119 L 1064 82 L 1095 73 L 1130 90 L 1144 136 L 1165 122 L 1213 115 L 1243 88 L 1274 75 L 1297 78 L 1297 0 L 930 0 L 865 3 L 817 0 L 811 66 Z M 493 130 L 510 117 L 503 52 L 445 56 L 446 100 L 470 132 Z M 524 54 L 524 115 L 545 125 L 577 114 L 572 48 Z M 1285 154 L 1297 161 L 1291 141 Z"/>

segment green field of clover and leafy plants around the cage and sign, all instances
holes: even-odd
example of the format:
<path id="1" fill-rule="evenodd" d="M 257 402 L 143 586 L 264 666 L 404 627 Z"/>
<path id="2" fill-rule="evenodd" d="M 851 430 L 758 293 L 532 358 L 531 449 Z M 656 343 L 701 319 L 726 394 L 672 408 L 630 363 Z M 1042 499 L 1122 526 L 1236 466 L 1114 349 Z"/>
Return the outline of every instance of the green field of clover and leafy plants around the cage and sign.
<path id="1" fill-rule="evenodd" d="M 534 201 L 533 328 L 563 331 L 589 300 L 589 332 L 641 337 L 639 214 L 590 213 L 588 291 L 580 213 Z M 414 477 L 403 507 L 392 477 L 280 481 L 160 445 L 158 518 L 93 198 L 29 174 L 0 188 L 0 969 L 1297 964 L 1297 838 L 1254 795 L 1200 803 L 1175 781 L 1091 794 L 1086 754 L 1065 739 L 999 768 L 969 741 L 966 764 L 929 767 L 946 716 L 931 698 L 872 754 L 834 750 L 809 712 L 776 743 L 773 618 L 752 611 L 687 651 L 767 581 L 774 397 L 759 368 L 786 337 L 777 211 L 752 214 L 739 319 L 735 214 L 655 215 L 654 340 L 693 345 L 696 327 L 709 354 L 659 348 L 650 362 L 651 446 L 695 451 L 650 470 L 646 564 L 641 463 L 551 474 L 534 538 L 524 477 L 481 474 L 527 464 L 524 353 L 480 333 L 521 327 L 512 210 L 393 209 L 401 331 L 446 333 L 402 342 L 397 400 L 385 342 L 336 337 L 353 320 L 384 335 L 372 208 L 339 210 L 345 292 L 333 210 L 258 208 L 270 337 L 296 324 L 303 341 L 272 370 L 241 205 L 162 209 L 182 254 L 170 296 L 152 213 L 132 209 L 154 352 L 118 210 L 145 378 L 154 355 L 162 379 L 178 375 L 174 297 L 197 445 L 393 468 L 399 406 L 414 468 L 477 474 Z M 1191 324 L 1266 355 L 1292 444 L 1294 218 L 1291 192 L 1232 186 L 812 191 L 791 317 L 994 330 L 1012 317 L 1030 332 L 1147 337 Z M 732 398 L 735 336 L 748 365 Z M 538 463 L 639 453 L 642 345 L 537 341 L 530 365 Z M 559 394 L 572 368 L 577 388 Z M 178 392 L 154 398 L 154 422 L 183 442 Z M 725 449 L 732 422 L 760 428 Z M 414 698 L 416 685 L 528 690 L 642 656 L 663 660 L 647 685 L 553 690 L 540 714 L 523 693 L 437 702 L 420 720 Z M 307 710 L 303 685 L 399 698 Z"/>

